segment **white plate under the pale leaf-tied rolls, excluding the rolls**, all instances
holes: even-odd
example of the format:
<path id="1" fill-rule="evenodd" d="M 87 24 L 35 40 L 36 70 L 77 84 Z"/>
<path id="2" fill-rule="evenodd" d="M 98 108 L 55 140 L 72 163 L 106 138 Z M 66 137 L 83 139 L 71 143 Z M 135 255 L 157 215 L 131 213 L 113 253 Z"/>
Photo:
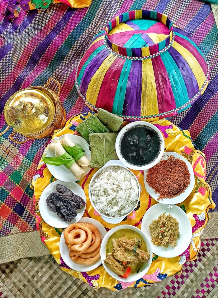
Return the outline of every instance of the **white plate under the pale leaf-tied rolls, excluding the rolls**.
<path id="1" fill-rule="evenodd" d="M 85 150 L 85 156 L 90 160 L 91 158 L 91 151 L 89 150 L 89 144 L 85 139 L 78 135 L 73 135 L 73 134 L 66 134 L 68 138 L 75 144 L 75 145 L 80 145 L 84 150 Z M 65 135 L 59 136 L 56 140 L 60 140 L 64 137 Z M 55 153 L 53 150 L 51 150 L 48 147 L 48 153 L 46 155 L 47 157 L 55 157 Z M 46 163 L 47 168 L 49 169 L 50 173 L 58 180 L 65 181 L 65 182 L 75 182 L 77 181 L 77 178 L 71 173 L 66 167 L 64 167 L 63 164 L 60 166 L 53 166 L 52 164 Z M 91 168 L 88 168 L 86 175 L 90 171 Z"/>

